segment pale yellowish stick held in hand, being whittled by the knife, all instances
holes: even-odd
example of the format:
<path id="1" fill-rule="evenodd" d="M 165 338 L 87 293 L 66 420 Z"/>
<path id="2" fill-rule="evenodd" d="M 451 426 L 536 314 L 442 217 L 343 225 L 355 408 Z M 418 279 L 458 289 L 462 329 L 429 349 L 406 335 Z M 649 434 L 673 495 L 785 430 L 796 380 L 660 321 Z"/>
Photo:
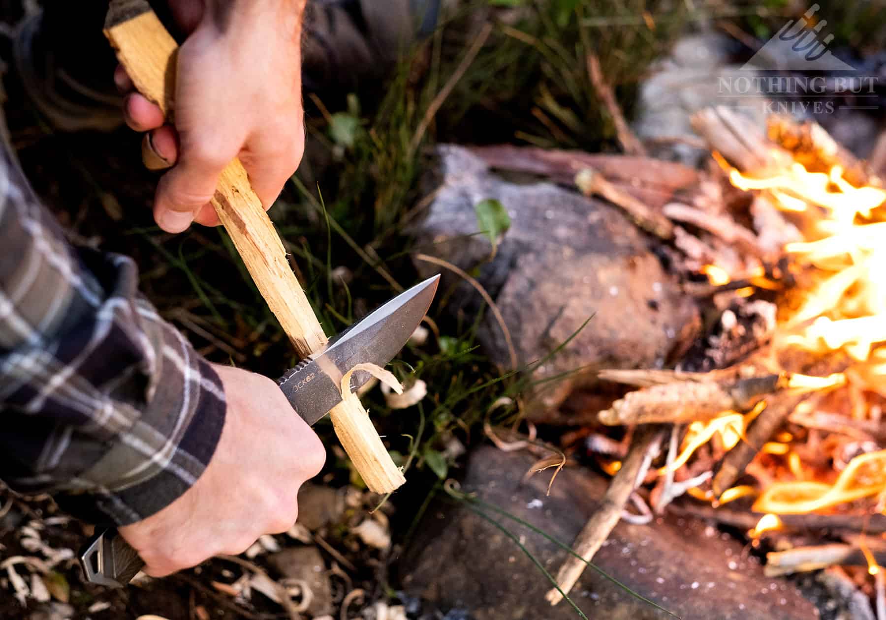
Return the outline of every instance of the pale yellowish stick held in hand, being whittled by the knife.
<path id="1" fill-rule="evenodd" d="M 170 118 L 178 46 L 150 5 L 145 0 L 113 0 L 105 36 L 138 91 Z M 283 242 L 238 159 L 221 172 L 212 203 L 261 296 L 299 356 L 323 349 L 327 342 L 323 327 L 292 273 Z M 406 481 L 357 399 L 344 399 L 330 411 L 330 417 L 338 439 L 370 491 L 390 493 Z"/>

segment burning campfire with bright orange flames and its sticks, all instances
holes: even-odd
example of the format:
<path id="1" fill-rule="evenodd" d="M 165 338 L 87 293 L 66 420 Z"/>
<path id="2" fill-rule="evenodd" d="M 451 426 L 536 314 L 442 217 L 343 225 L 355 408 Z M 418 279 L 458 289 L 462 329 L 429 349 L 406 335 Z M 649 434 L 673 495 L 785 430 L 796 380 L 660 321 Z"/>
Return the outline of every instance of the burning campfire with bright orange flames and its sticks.
<path id="1" fill-rule="evenodd" d="M 773 116 L 764 134 L 711 109 L 694 125 L 715 162 L 709 180 L 723 182 L 663 212 L 696 230 L 665 234 L 706 279 L 688 289 L 718 318 L 696 347 L 707 360 L 600 373 L 639 389 L 599 414 L 627 427 L 624 440 L 587 439 L 613 480 L 574 548 L 591 557 L 619 518 L 649 523 L 669 507 L 772 549 L 768 575 L 843 565 L 882 605 L 886 190 L 813 123 Z M 580 572 L 563 565 L 564 591 Z"/>

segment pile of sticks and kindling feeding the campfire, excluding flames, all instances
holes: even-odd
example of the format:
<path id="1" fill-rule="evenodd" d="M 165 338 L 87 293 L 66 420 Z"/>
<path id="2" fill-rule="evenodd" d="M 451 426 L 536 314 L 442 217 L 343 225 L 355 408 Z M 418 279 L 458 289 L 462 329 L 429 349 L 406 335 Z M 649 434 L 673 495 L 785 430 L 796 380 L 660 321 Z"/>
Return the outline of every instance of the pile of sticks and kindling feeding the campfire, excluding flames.
<path id="1" fill-rule="evenodd" d="M 663 245 L 672 250 L 672 256 L 678 258 L 676 264 L 682 265 L 687 274 L 698 272 L 706 264 L 717 264 L 724 269 L 728 282 L 701 284 L 696 280 L 688 285 L 688 292 L 700 300 L 714 300 L 715 308 L 722 313 L 723 325 L 734 325 L 736 302 L 753 303 L 742 301 L 743 298 L 735 295 L 736 290 L 764 287 L 772 295 L 778 295 L 780 290 L 794 284 L 794 275 L 785 268 L 782 248 L 785 243 L 800 239 L 800 232 L 773 204 L 767 203 L 766 198 L 751 198 L 731 188 L 724 172 L 727 165 L 751 175 L 783 170 L 793 162 L 802 163 L 810 171 L 828 171 L 833 165 L 841 165 L 847 171 L 845 178 L 854 185 L 875 185 L 879 180 L 867 170 L 864 162 L 839 147 L 814 123 L 800 124 L 776 116 L 769 119 L 764 128 L 753 126 L 733 111 L 716 108 L 699 112 L 693 125 L 715 155 L 709 169 L 699 172 L 696 190 L 678 193 L 678 200 L 650 208 L 649 202 L 638 200 L 635 192 L 618 187 L 590 166 L 578 171 L 576 183 L 587 195 L 599 195 L 625 210 L 637 226 L 661 239 Z M 574 168 L 575 159 L 571 161 Z M 727 318 L 730 311 L 733 311 L 732 318 Z M 851 417 L 828 417 L 821 413 L 820 407 L 800 407 L 807 401 L 820 403 L 828 393 L 792 387 L 794 373 L 823 377 L 843 371 L 848 362 L 837 355 L 829 356 L 828 360 L 799 354 L 785 359 L 783 351 L 776 354 L 769 341 L 773 325 L 745 339 L 741 351 L 720 356 L 712 366 L 701 364 L 701 367 L 711 367 L 709 371 L 600 373 L 603 380 L 639 389 L 598 414 L 603 425 L 624 425 L 633 429 L 629 431 L 633 435 L 600 507 L 573 543 L 578 555 L 590 561 L 618 521 L 631 517 L 626 505 L 632 499 L 637 501 L 638 495 L 657 513 L 669 507 L 678 514 L 753 530 L 763 515 L 751 511 L 747 504 L 744 510 L 713 509 L 710 501 L 674 500 L 688 489 L 703 484 L 710 485 L 711 499 L 717 500 L 748 475 L 758 482 L 771 481 L 772 474 L 755 465 L 755 457 L 786 425 L 800 428 L 810 436 L 837 431 L 843 439 L 834 449 L 851 449 L 852 442 L 884 439 L 878 425 Z M 710 347 L 700 350 L 711 352 Z M 684 367 L 699 366 L 691 360 L 685 362 Z M 815 414 L 809 415 L 813 410 Z M 742 440 L 728 449 L 711 440 L 696 451 L 692 463 L 684 463 L 673 471 L 670 465 L 674 463 L 686 425 L 710 421 L 727 411 L 743 416 L 747 430 Z M 662 462 L 667 473 L 658 476 L 653 463 Z M 651 490 L 642 488 L 653 480 L 656 482 Z M 652 511 L 649 511 L 649 520 Z M 832 540 L 825 545 L 820 544 L 823 530 L 828 531 Z M 886 532 L 886 517 L 818 514 L 782 517 L 780 531 L 766 535 L 781 536 L 789 540 L 788 546 L 793 548 L 769 554 L 766 573 L 781 575 L 832 564 L 867 565 L 872 558 L 876 563 L 886 562 L 886 545 L 866 547 L 862 532 Z M 563 593 L 569 593 L 585 566 L 576 557 L 563 563 L 556 576 L 559 589 L 548 592 L 551 604 L 561 601 Z"/>

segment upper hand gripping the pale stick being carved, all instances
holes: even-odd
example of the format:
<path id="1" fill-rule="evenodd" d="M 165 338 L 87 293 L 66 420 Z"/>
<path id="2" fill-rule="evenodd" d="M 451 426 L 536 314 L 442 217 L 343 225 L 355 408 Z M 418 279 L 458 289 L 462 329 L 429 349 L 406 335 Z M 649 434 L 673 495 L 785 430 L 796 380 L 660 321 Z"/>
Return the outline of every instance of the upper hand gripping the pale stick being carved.
<path id="1" fill-rule="evenodd" d="M 127 124 L 151 132 L 169 165 L 154 198 L 154 218 L 180 233 L 191 221 L 219 224 L 209 203 L 234 157 L 267 210 L 295 172 L 305 147 L 301 103 L 301 19 L 306 0 L 169 0 L 188 34 L 178 53 L 175 127 L 135 92 Z M 122 67 L 114 80 L 132 82 Z"/>

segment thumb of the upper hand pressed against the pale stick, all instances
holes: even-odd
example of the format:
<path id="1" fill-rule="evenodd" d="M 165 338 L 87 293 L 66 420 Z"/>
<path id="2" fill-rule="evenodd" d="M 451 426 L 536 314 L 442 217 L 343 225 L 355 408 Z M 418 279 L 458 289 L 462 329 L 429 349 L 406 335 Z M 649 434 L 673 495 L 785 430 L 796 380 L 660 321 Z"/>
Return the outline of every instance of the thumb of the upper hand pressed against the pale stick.
<path id="1" fill-rule="evenodd" d="M 154 198 L 154 219 L 167 233 L 181 233 L 212 199 L 219 174 L 237 156 L 228 149 L 200 149 L 183 143 L 178 164 L 163 175 Z"/>

